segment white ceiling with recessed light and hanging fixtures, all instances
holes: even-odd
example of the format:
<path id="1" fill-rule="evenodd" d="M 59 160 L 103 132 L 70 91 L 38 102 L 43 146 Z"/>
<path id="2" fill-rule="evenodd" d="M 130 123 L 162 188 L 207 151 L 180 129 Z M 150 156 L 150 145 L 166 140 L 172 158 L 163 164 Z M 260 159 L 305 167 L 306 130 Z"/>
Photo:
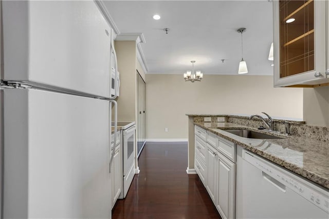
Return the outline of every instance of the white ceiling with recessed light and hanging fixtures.
<path id="1" fill-rule="evenodd" d="M 104 1 L 120 35 L 143 33 L 149 74 L 237 75 L 243 58 L 248 75 L 273 75 L 272 3 L 263 1 Z M 153 15 L 159 14 L 160 20 Z M 169 28 L 168 34 L 163 28 Z M 224 63 L 221 61 L 224 60 Z"/>

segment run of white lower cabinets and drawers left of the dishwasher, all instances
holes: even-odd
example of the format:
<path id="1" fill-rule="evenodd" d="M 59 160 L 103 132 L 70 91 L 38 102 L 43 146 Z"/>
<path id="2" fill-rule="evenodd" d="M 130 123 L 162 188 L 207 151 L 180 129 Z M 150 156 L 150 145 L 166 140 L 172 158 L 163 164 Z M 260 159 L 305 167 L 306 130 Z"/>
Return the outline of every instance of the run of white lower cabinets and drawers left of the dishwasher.
<path id="1" fill-rule="evenodd" d="M 236 145 L 196 127 L 194 168 L 223 219 L 235 218 Z M 202 136 L 206 136 L 202 138 Z M 215 141 L 215 139 L 217 142 Z"/>

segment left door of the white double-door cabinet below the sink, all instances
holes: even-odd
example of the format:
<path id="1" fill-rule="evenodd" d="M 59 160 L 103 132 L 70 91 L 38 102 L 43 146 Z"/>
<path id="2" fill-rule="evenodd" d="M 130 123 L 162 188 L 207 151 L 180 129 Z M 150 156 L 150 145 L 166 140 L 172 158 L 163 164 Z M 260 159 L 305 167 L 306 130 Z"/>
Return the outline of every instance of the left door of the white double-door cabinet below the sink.
<path id="1" fill-rule="evenodd" d="M 217 153 L 216 150 L 207 143 L 207 184 L 206 189 L 215 203 L 216 197 L 216 182 L 217 182 Z"/>

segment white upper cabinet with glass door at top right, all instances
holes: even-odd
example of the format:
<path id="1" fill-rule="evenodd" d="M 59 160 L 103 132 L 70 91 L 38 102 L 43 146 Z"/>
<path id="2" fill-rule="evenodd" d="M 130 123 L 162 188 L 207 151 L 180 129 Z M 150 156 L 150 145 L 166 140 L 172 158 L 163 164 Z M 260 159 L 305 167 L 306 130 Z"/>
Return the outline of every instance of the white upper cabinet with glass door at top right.
<path id="1" fill-rule="evenodd" d="M 327 1 L 274 1 L 274 86 L 328 85 Z"/>

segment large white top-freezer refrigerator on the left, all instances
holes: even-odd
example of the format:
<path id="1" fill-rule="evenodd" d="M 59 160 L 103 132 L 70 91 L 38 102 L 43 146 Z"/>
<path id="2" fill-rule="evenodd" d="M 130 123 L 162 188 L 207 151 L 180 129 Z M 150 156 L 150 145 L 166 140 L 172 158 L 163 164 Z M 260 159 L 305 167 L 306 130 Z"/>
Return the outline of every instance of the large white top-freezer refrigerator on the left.
<path id="1" fill-rule="evenodd" d="M 111 218 L 111 27 L 94 1 L 1 7 L 2 218 Z"/>

